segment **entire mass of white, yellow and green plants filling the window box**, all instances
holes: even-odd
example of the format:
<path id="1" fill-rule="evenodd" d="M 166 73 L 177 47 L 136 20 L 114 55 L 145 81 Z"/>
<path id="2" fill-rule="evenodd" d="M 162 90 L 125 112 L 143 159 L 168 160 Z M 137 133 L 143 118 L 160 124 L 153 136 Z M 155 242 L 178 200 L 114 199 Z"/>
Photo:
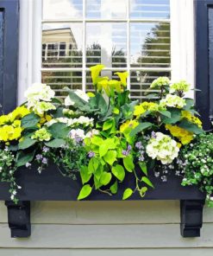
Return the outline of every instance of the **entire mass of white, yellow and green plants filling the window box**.
<path id="1" fill-rule="evenodd" d="M 129 97 L 127 72 L 117 72 L 118 80 L 110 80 L 100 76 L 102 69 L 91 67 L 95 93 L 66 88 L 62 102 L 50 86 L 34 84 L 25 93 L 24 105 L 0 117 L 0 180 L 10 182 L 12 200 L 17 202 L 21 189 L 16 170 L 34 164 L 41 173 L 55 163 L 63 176 L 80 178 L 78 200 L 93 190 L 116 194 L 127 174 L 135 189 L 126 188 L 122 199 L 134 193 L 143 197 L 154 188 L 151 170 L 163 181 L 168 170 L 182 175 L 183 185 L 206 181 L 191 178 L 195 149 L 190 145 L 204 138 L 199 135 L 204 131 L 193 99 L 185 98 L 190 86 L 160 77 L 150 85 L 156 93 L 147 90 L 147 100 L 139 103 Z M 200 170 L 200 176 L 206 173 Z M 211 189 L 206 190 L 209 198 Z"/>

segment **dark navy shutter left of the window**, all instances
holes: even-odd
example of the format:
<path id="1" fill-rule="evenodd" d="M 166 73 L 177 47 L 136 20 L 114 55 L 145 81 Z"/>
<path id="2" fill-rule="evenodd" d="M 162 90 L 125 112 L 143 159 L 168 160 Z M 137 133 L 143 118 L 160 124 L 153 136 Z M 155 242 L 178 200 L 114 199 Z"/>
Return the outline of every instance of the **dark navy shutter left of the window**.
<path id="1" fill-rule="evenodd" d="M 0 0 L 0 111 L 16 107 L 18 64 L 18 0 Z"/>

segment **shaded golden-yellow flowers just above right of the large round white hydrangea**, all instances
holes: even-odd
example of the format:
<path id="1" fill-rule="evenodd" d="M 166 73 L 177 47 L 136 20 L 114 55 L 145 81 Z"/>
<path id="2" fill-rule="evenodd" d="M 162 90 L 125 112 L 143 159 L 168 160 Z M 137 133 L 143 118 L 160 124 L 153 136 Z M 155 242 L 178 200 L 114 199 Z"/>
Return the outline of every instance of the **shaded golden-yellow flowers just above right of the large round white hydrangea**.
<path id="1" fill-rule="evenodd" d="M 166 125 L 166 129 L 169 130 L 173 137 L 179 138 L 182 144 L 189 144 L 193 139 L 193 133 L 180 128 L 177 125 Z"/>

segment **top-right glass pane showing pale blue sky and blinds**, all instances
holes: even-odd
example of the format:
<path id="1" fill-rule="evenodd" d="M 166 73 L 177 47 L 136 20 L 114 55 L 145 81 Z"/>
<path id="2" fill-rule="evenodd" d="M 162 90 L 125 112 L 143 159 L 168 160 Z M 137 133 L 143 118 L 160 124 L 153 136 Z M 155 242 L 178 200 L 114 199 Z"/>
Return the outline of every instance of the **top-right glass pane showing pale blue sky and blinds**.
<path id="1" fill-rule="evenodd" d="M 130 0 L 130 18 L 168 19 L 169 0 Z"/>

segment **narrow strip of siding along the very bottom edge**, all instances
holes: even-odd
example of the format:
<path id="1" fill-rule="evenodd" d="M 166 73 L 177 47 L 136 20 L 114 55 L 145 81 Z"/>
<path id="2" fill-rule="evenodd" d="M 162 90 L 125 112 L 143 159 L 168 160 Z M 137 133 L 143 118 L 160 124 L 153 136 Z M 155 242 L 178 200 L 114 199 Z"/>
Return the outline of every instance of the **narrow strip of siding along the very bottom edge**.
<path id="1" fill-rule="evenodd" d="M 54 250 L 54 249 L 2 249 L 3 256 L 212 256 L 212 249 L 86 249 L 86 250 Z"/>

